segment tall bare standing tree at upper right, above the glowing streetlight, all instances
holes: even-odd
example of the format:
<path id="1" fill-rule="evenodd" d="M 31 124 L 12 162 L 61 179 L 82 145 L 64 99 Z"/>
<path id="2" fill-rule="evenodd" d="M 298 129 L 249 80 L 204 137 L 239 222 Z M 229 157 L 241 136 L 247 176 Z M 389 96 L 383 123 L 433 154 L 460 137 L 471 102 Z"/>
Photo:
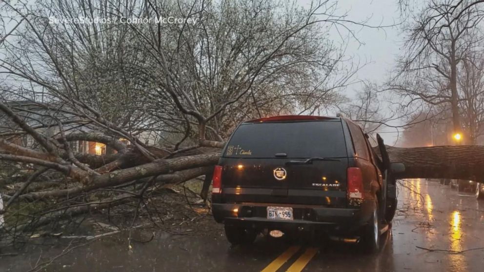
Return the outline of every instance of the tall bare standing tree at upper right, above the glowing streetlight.
<path id="1" fill-rule="evenodd" d="M 479 46 L 484 13 L 469 8 L 455 18 L 455 9 L 452 1 L 428 1 L 411 19 L 404 55 L 388 88 L 406 98 L 404 106 L 449 103 L 453 131 L 461 132 L 458 78 L 465 58 Z"/>

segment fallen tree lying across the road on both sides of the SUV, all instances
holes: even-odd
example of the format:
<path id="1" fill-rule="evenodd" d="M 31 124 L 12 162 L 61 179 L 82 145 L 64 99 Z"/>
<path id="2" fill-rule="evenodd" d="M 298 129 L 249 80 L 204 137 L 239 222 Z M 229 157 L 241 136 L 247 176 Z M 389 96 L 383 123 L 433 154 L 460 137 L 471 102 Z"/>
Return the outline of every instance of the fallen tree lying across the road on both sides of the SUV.
<path id="1" fill-rule="evenodd" d="M 2 142 L 0 142 L 1 146 Z M 9 145 L 12 147 L 12 144 Z M 156 147 L 149 148 L 152 152 Z M 11 149 L 12 150 L 12 149 Z M 190 154 L 197 153 L 193 149 Z M 118 169 L 105 174 L 95 174 L 76 168 L 74 165 L 61 165 L 55 162 L 56 159 L 40 161 L 38 156 L 47 157 L 45 154 L 36 154 L 36 157 L 22 155 L 24 149 L 17 149 L 17 154 L 0 154 L 0 160 L 12 160 L 20 162 L 40 163 L 44 167 L 51 167 L 60 170 L 69 176 L 69 180 L 76 186 L 69 186 L 66 189 L 44 190 L 37 192 L 23 193 L 29 184 L 38 175 L 45 172 L 42 168 L 40 174 L 34 173 L 13 195 L 4 195 L 8 202 L 5 208 L 0 211 L 4 213 L 12 198 L 18 200 L 38 200 L 50 197 L 75 197 L 100 188 L 111 188 L 123 184 L 141 180 L 146 177 L 155 177 L 156 182 L 168 182 L 175 180 L 180 183 L 200 175 L 210 173 L 213 165 L 217 162 L 220 153 L 212 151 L 206 154 L 186 155 L 177 154 L 174 158 L 156 159 L 145 162 L 134 150 L 119 156 Z M 387 146 L 391 162 L 401 162 L 405 165 L 405 172 L 397 175 L 398 178 L 456 178 L 456 179 L 484 179 L 484 162 L 479 158 L 484 156 L 483 146 L 435 146 L 418 148 L 397 148 Z M 156 152 L 154 152 L 157 154 Z M 162 154 L 166 155 L 164 151 Z M 133 159 L 133 157 L 138 159 Z M 111 162 L 110 162 L 111 163 Z M 123 169 L 119 169 L 123 168 Z M 22 194 L 23 193 L 23 194 Z"/>

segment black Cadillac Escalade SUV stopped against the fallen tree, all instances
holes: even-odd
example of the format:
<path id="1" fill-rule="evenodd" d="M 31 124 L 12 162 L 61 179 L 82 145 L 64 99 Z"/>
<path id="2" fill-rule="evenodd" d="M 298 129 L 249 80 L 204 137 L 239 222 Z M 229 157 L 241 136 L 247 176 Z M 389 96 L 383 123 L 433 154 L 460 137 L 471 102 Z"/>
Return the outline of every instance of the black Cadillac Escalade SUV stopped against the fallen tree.
<path id="1" fill-rule="evenodd" d="M 378 139 L 382 159 L 362 129 L 342 117 L 243 122 L 215 166 L 215 220 L 224 224 L 232 244 L 251 243 L 266 230 L 310 230 L 360 240 L 376 251 L 397 203 L 388 155 Z"/>

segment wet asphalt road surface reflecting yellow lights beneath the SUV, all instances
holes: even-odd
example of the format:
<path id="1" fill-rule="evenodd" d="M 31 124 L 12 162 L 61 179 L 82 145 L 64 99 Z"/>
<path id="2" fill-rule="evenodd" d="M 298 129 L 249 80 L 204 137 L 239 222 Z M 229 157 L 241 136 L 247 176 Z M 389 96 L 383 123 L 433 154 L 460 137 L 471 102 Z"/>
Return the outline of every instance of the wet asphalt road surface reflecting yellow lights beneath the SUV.
<path id="1" fill-rule="evenodd" d="M 484 271 L 484 249 L 478 249 L 484 247 L 484 201 L 424 179 L 404 184 L 379 254 L 362 253 L 352 244 L 264 237 L 231 248 L 214 224 L 214 233 L 161 233 L 131 251 L 125 237 L 107 236 L 54 260 L 46 271 Z M 42 250 L 44 256 L 59 253 L 61 248 Z M 1 257 L 0 271 L 28 271 L 38 257 L 39 249 Z"/>

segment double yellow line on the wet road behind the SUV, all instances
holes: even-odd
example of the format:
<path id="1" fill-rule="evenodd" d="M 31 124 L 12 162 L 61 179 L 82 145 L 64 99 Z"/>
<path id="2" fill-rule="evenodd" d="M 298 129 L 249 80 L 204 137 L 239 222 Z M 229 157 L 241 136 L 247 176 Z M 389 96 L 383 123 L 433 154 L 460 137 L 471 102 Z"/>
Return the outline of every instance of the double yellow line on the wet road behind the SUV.
<path id="1" fill-rule="evenodd" d="M 301 246 L 292 246 L 284 251 L 279 257 L 272 261 L 262 272 L 276 272 L 282 267 L 294 254 L 299 252 Z M 300 272 L 309 263 L 309 261 L 318 253 L 317 248 L 307 248 L 304 253 L 287 269 L 286 272 Z"/>

